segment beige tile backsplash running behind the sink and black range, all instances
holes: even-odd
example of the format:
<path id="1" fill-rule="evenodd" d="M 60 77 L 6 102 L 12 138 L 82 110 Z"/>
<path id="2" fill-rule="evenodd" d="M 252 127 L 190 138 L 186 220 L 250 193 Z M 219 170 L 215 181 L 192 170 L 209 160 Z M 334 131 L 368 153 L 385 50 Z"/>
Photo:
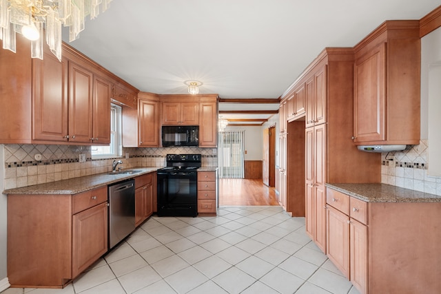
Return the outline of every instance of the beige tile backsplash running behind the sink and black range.
<path id="1" fill-rule="evenodd" d="M 4 145 L 4 189 L 111 171 L 112 162 L 116 158 L 92 160 L 90 148 L 74 145 Z M 80 154 L 85 154 L 85 162 L 79 162 Z M 218 166 L 213 148 L 123 148 L 123 154 L 123 158 L 118 158 L 123 161 L 123 169 L 165 167 L 167 154 L 202 154 L 203 167 Z M 128 154 L 128 158 L 125 154 Z"/>

